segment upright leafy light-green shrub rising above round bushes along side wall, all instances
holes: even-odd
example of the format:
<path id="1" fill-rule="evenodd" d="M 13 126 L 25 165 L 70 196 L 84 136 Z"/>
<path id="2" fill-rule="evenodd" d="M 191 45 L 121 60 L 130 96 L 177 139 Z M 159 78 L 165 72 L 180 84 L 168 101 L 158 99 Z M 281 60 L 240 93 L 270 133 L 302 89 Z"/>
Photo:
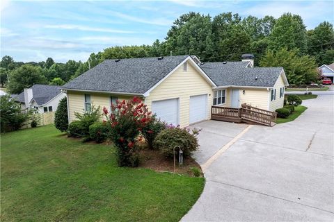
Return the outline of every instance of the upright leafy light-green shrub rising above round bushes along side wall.
<path id="1" fill-rule="evenodd" d="M 84 113 L 74 112 L 74 116 L 81 121 L 81 137 L 89 137 L 89 126 L 97 122 L 102 114 L 100 113 L 100 106 L 95 108 L 95 106 L 92 105 L 90 111 Z"/>

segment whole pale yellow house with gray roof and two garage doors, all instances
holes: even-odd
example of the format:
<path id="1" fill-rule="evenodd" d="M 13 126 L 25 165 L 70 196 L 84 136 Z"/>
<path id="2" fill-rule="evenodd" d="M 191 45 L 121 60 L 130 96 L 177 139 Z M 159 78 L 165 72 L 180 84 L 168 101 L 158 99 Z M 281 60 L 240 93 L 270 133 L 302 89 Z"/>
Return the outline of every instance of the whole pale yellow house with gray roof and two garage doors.
<path id="1" fill-rule="evenodd" d="M 196 56 L 104 60 L 63 85 L 69 121 L 92 104 L 110 110 L 116 99 L 133 96 L 141 97 L 157 117 L 182 127 L 210 119 L 212 105 L 282 108 L 288 85 L 283 68 L 255 68 L 252 58 L 207 63 Z"/>

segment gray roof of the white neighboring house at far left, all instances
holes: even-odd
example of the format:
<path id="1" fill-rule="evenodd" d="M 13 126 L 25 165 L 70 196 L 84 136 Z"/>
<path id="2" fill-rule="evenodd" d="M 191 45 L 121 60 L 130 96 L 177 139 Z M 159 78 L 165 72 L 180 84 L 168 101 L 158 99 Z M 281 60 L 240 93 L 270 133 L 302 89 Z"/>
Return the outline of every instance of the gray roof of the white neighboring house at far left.
<path id="1" fill-rule="evenodd" d="M 33 89 L 33 100 L 35 100 L 38 105 L 44 105 L 61 93 L 61 87 L 58 85 L 35 84 L 31 88 Z M 24 92 L 15 96 L 15 100 L 24 103 Z"/>

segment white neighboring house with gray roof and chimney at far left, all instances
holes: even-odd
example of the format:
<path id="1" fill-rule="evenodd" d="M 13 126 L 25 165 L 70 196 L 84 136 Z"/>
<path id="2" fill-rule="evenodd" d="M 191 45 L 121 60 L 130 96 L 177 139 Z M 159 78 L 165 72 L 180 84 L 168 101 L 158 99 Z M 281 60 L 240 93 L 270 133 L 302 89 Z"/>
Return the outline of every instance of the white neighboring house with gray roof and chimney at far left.
<path id="1" fill-rule="evenodd" d="M 59 101 L 65 96 L 58 85 L 35 84 L 13 96 L 13 99 L 21 104 L 22 110 L 34 108 L 39 113 L 45 113 L 55 112 Z"/>

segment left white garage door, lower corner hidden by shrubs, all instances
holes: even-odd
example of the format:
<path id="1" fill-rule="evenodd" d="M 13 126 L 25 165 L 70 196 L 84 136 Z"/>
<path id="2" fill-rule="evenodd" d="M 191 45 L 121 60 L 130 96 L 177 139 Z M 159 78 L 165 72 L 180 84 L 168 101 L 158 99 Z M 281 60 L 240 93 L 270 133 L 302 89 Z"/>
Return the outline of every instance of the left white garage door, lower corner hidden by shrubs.
<path id="1" fill-rule="evenodd" d="M 161 121 L 177 126 L 179 117 L 178 99 L 153 101 L 152 112 L 157 114 Z"/>

